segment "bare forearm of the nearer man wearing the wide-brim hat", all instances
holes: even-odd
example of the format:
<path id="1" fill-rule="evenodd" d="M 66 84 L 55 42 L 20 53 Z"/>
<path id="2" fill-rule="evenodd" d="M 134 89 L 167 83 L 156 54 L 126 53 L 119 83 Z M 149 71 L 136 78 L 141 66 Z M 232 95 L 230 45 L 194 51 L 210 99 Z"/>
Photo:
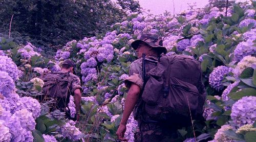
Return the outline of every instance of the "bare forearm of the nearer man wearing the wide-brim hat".
<path id="1" fill-rule="evenodd" d="M 125 103 L 124 103 L 124 110 L 123 110 L 123 116 L 122 116 L 122 120 L 120 122 L 120 124 L 125 125 L 127 120 L 129 119 L 129 116 L 131 115 L 134 106 L 139 98 L 139 92 L 140 92 L 140 88 L 137 85 L 132 85 L 127 97 L 125 99 Z"/>

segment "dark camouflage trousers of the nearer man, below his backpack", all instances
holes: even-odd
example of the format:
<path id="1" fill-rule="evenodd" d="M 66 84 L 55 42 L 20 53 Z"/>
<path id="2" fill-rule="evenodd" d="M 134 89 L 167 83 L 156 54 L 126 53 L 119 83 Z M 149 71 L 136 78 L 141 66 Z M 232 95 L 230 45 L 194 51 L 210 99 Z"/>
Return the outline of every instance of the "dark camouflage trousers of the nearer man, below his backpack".
<path id="1" fill-rule="evenodd" d="M 144 123 L 138 121 L 139 128 L 134 133 L 135 142 L 144 141 L 177 141 L 177 129 L 158 123 Z"/>

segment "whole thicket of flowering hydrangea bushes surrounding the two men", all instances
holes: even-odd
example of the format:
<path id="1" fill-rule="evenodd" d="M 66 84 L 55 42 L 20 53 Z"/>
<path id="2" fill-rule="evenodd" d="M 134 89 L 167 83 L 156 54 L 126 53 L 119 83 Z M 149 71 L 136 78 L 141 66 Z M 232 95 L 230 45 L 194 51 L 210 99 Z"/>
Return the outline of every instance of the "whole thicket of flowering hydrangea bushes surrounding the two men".
<path id="1" fill-rule="evenodd" d="M 205 121 L 193 121 L 196 139 L 193 129 L 188 127 L 179 128 L 177 141 L 253 141 L 256 135 L 256 3 L 229 7 L 227 17 L 224 9 L 190 10 L 176 16 L 130 14 L 112 25 L 111 31 L 103 36 L 67 42 L 50 59 L 42 57 L 31 43 L 17 45 L 11 39 L 2 38 L 0 138 L 7 141 L 31 141 L 32 138 L 36 141 L 115 141 L 127 95 L 123 80 L 136 60 L 130 44 L 140 34 L 149 32 L 163 37 L 168 55 L 184 54 L 201 62 L 207 90 Z M 82 82 L 79 123 L 66 120 L 60 111 L 49 112 L 51 100 L 40 104 L 40 114 L 39 109 L 33 109 L 38 103 L 32 98 L 41 93 L 43 84 L 40 76 L 59 70 L 65 59 L 76 62 L 75 70 Z M 7 66 L 7 62 L 11 66 Z M 73 98 L 70 100 L 74 114 Z M 29 115 L 25 117 L 24 113 Z M 14 116 L 25 119 L 6 119 Z M 31 123 L 20 124 L 23 122 Z M 129 141 L 133 141 L 136 126 L 131 115 L 125 133 Z M 14 130 L 22 134 L 16 135 Z"/>

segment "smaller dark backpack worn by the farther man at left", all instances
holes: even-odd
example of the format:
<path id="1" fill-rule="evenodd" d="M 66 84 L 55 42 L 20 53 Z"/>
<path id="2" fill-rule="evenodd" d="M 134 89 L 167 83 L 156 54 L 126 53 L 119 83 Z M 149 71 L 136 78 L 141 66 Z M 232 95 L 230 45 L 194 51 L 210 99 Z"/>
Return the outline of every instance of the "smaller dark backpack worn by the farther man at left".
<path id="1" fill-rule="evenodd" d="M 55 99 L 56 108 L 66 108 L 71 95 L 70 73 L 50 73 L 42 78 L 44 86 L 42 93 L 45 97 Z"/>

